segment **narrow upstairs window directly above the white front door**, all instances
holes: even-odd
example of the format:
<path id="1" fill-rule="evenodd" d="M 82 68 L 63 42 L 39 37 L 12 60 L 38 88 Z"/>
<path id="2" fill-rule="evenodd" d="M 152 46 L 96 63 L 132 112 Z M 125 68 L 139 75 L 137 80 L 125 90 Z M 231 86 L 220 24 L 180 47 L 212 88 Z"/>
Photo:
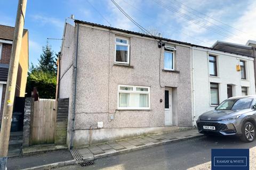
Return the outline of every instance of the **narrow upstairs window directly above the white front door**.
<path id="1" fill-rule="evenodd" d="M 174 47 L 164 47 L 164 70 L 174 70 Z"/>

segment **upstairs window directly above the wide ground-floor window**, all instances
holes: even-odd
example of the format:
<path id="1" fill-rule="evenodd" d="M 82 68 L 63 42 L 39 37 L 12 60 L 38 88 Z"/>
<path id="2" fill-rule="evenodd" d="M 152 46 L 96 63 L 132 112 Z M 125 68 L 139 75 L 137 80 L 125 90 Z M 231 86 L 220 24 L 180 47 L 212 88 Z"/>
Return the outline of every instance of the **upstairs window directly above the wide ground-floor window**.
<path id="1" fill-rule="evenodd" d="M 115 44 L 115 63 L 129 64 L 129 40 L 126 38 L 116 38 Z"/>

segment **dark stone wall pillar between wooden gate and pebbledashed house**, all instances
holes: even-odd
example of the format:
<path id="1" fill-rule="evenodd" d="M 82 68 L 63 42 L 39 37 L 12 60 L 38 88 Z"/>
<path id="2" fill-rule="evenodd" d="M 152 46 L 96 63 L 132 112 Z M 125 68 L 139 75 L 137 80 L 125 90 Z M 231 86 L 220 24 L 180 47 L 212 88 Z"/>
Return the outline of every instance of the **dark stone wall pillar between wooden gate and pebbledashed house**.
<path id="1" fill-rule="evenodd" d="M 69 98 L 58 99 L 55 144 L 66 145 Z"/>

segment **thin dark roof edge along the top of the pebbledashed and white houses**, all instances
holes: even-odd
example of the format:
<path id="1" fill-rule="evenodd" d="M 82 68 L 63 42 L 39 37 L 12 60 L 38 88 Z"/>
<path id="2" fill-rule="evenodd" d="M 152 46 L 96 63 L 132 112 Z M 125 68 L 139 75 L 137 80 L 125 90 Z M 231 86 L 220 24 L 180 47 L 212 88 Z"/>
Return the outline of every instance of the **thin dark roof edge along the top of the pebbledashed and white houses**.
<path id="1" fill-rule="evenodd" d="M 74 22 L 75 22 L 75 23 L 89 24 L 89 25 L 92 25 L 93 27 L 94 27 L 94 26 L 97 26 L 97 27 L 106 28 L 106 29 L 110 29 L 110 30 L 121 31 L 121 32 L 126 32 L 126 33 L 131 33 L 131 34 L 133 34 L 133 35 L 138 35 L 138 36 L 141 36 L 141 37 L 149 37 L 149 38 L 154 38 L 154 39 L 158 39 L 158 40 L 164 40 L 164 41 L 167 41 L 167 42 L 172 42 L 172 43 L 177 43 L 177 44 L 188 45 L 188 46 L 192 46 L 192 47 L 201 47 L 201 48 L 206 48 L 206 49 L 210 49 L 210 50 L 218 50 L 218 51 L 224 52 L 224 53 L 230 53 L 230 54 L 236 54 L 236 55 L 243 55 L 243 56 L 247 56 L 247 57 L 252 57 L 251 55 L 239 54 L 239 53 L 230 52 L 230 51 L 227 51 L 227 50 L 215 49 L 215 48 L 211 48 L 211 47 L 206 47 L 206 46 L 201 46 L 201 45 L 186 43 L 186 42 L 177 41 L 177 40 L 173 40 L 173 39 L 168 39 L 168 38 L 163 38 L 163 37 L 157 37 L 157 36 L 151 36 L 151 35 L 147 35 L 147 34 L 140 33 L 140 32 L 134 32 L 134 31 L 124 30 L 124 29 L 109 27 L 109 26 L 106 26 L 106 25 L 101 25 L 101 24 L 92 23 L 92 22 L 86 22 L 86 21 L 81 21 L 81 20 L 75 20 Z"/>

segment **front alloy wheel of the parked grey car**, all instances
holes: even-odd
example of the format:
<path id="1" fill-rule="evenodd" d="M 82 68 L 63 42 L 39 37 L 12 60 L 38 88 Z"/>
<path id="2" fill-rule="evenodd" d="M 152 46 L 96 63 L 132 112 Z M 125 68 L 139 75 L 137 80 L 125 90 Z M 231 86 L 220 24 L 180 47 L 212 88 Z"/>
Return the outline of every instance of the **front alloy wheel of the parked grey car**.
<path id="1" fill-rule="evenodd" d="M 251 122 L 245 122 L 242 129 L 241 140 L 244 142 L 252 142 L 255 139 L 255 127 Z"/>

